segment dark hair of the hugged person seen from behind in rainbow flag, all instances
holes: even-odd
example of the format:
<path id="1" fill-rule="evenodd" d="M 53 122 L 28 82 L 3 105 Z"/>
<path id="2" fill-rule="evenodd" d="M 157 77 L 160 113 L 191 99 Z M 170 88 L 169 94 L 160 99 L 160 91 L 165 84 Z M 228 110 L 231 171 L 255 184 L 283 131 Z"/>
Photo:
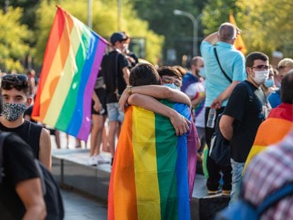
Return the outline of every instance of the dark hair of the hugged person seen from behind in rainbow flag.
<path id="1" fill-rule="evenodd" d="M 138 64 L 130 71 L 130 85 L 161 85 L 161 79 L 153 65 Z"/>

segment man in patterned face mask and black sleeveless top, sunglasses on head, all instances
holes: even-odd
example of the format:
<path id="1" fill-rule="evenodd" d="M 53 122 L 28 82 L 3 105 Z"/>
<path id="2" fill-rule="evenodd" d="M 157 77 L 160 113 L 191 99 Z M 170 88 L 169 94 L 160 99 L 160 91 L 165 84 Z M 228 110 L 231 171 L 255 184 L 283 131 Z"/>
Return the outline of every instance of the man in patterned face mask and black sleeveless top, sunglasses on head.
<path id="1" fill-rule="evenodd" d="M 25 110 L 32 102 L 28 77 L 21 74 L 3 76 L 1 79 L 1 95 L 3 111 L 0 116 L 0 130 L 18 134 L 33 149 L 35 158 L 38 158 L 50 170 L 50 132 L 23 118 Z"/>

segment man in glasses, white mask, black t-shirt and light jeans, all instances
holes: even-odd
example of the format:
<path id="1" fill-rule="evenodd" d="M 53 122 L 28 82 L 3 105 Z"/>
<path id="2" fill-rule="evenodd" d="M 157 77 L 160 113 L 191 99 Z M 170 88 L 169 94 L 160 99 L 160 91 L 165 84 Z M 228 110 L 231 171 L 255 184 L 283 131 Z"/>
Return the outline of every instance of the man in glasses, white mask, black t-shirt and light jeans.
<path id="1" fill-rule="evenodd" d="M 225 139 L 230 141 L 232 190 L 230 204 L 238 194 L 238 187 L 246 158 L 253 146 L 260 123 L 270 110 L 265 93 L 260 88 L 269 76 L 269 59 L 262 52 L 246 57 L 247 80 L 239 83 L 231 93 L 219 122 Z"/>

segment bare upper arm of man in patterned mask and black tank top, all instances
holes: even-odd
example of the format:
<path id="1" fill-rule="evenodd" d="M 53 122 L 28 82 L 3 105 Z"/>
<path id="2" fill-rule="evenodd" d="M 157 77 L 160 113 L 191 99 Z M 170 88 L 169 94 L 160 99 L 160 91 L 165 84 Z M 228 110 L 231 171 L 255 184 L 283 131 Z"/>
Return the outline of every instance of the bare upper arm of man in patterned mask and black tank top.
<path id="1" fill-rule="evenodd" d="M 42 128 L 40 134 L 39 160 L 48 170 L 51 170 L 51 139 L 50 132 L 45 128 Z"/>

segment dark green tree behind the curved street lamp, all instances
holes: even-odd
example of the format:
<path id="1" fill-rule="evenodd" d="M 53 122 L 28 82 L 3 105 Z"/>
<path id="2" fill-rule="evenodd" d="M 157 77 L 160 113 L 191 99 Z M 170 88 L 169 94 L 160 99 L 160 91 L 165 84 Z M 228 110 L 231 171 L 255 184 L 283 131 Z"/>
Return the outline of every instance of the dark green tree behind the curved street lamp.
<path id="1" fill-rule="evenodd" d="M 183 54 L 191 58 L 193 53 L 193 23 L 185 16 L 175 16 L 173 11 L 179 9 L 193 14 L 200 20 L 200 12 L 205 1 L 195 0 L 148 0 L 134 1 L 134 8 L 138 11 L 138 16 L 149 21 L 149 27 L 155 33 L 163 35 L 165 42 L 163 45 L 163 58 L 166 64 L 171 64 L 166 60 L 169 49 L 177 52 L 176 63 L 180 63 Z M 200 22 L 199 22 L 200 23 Z M 201 31 L 199 28 L 199 34 Z M 200 39 L 200 37 L 198 38 Z"/>

